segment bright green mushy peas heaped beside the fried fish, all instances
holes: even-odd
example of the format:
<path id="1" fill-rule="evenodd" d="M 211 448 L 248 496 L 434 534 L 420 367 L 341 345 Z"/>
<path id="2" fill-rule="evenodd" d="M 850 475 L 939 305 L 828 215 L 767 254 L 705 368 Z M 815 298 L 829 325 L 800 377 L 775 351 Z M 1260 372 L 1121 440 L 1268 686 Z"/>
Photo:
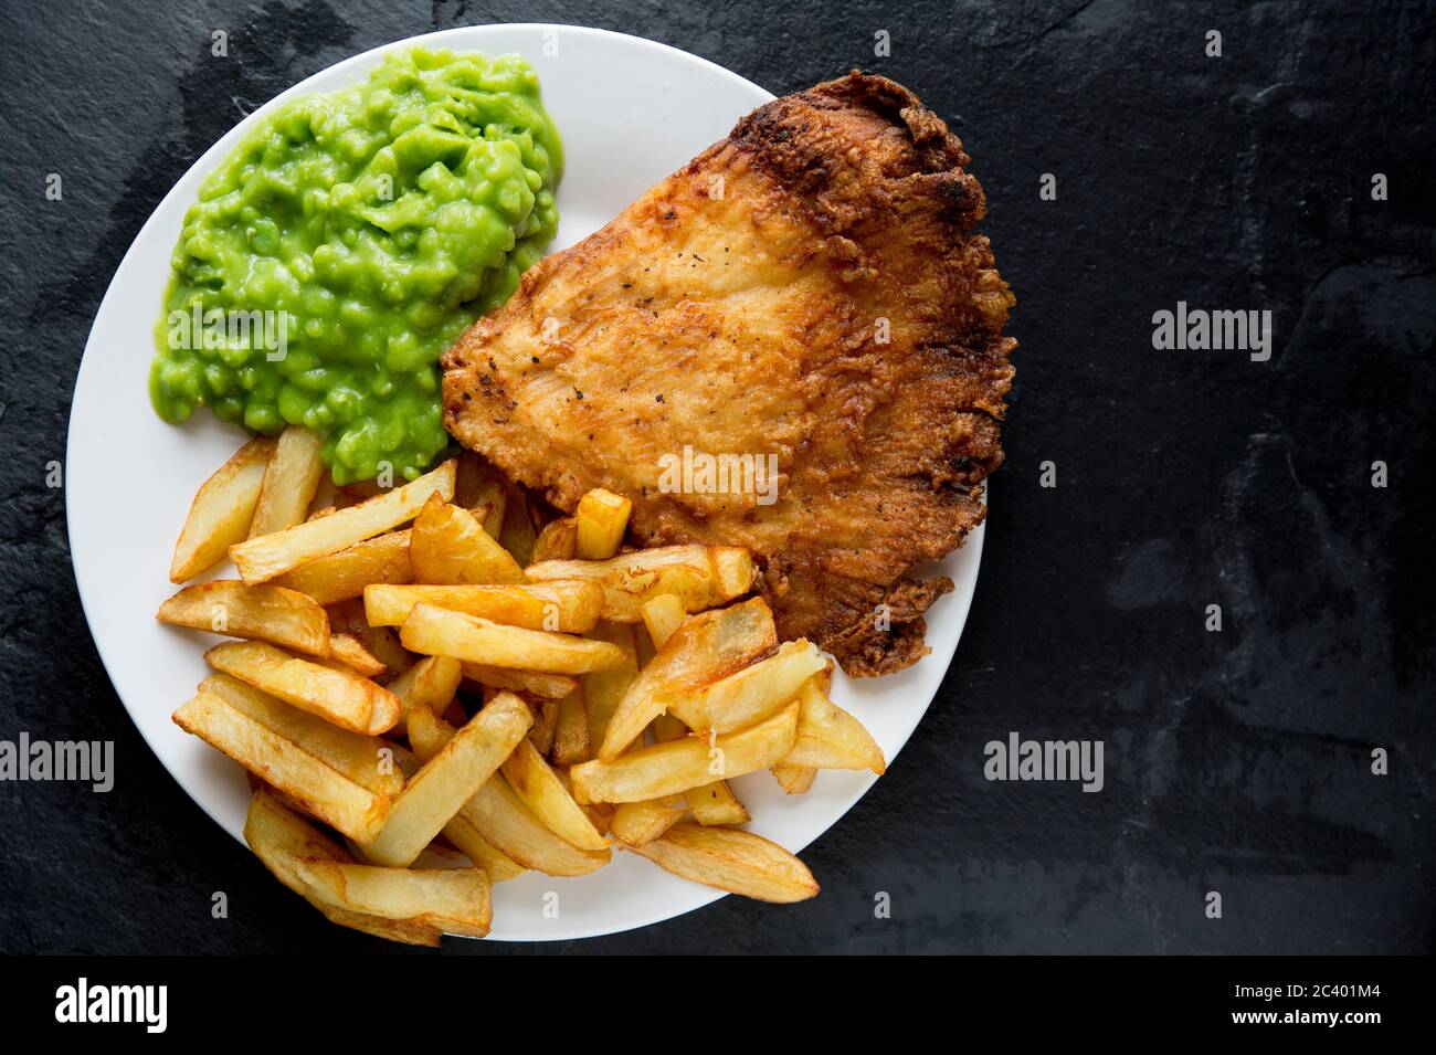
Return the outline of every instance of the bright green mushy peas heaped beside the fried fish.
<path id="1" fill-rule="evenodd" d="M 149 393 L 325 436 L 335 482 L 448 445 L 438 357 L 554 235 L 559 133 L 517 56 L 391 55 L 250 132 L 185 214 Z"/>

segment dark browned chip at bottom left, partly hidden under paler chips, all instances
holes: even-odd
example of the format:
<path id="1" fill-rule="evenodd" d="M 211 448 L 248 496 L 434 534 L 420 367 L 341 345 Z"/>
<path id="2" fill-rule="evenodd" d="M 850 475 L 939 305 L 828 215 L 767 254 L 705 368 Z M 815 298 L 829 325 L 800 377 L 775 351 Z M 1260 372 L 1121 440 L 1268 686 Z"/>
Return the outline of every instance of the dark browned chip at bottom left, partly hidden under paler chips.
<path id="1" fill-rule="evenodd" d="M 250 811 L 244 820 L 244 841 L 280 883 L 319 909 L 332 923 L 392 942 L 439 944 L 442 932 L 435 926 L 418 920 L 365 916 L 322 901 L 309 884 L 299 878 L 294 864 L 304 858 L 349 861 L 350 855 L 292 810 L 280 805 L 264 788 L 256 791 L 250 800 Z"/>

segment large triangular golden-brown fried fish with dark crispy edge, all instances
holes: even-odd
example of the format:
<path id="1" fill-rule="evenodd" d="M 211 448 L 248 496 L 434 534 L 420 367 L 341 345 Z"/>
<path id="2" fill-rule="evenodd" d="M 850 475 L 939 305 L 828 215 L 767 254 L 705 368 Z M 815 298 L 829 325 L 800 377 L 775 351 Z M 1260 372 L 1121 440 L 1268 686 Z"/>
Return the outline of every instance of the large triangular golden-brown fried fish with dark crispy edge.
<path id="1" fill-rule="evenodd" d="M 445 425 L 563 510 L 628 495 L 645 545 L 751 547 L 847 673 L 916 662 L 952 583 L 908 573 L 982 520 L 1017 344 L 966 164 L 886 78 L 758 108 L 460 339 Z"/>

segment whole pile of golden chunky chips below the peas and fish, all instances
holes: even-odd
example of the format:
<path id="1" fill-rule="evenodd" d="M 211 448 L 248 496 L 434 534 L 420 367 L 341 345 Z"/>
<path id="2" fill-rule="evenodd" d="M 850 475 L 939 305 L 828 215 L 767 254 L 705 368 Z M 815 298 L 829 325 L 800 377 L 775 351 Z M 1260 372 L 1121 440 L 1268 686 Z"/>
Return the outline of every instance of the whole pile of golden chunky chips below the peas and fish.
<path id="1" fill-rule="evenodd" d="M 800 794 L 883 756 L 829 699 L 831 663 L 737 600 L 747 550 L 617 553 L 630 504 L 606 491 L 537 531 L 527 494 L 472 455 L 335 489 L 319 451 L 286 429 L 201 487 L 172 571 L 228 547 L 241 578 L 158 613 L 240 639 L 205 653 L 217 673 L 174 721 L 250 771 L 246 838 L 280 881 L 415 944 L 487 934 L 493 883 L 584 876 L 615 844 L 719 890 L 817 893 L 735 827 L 728 778 L 771 769 Z"/>

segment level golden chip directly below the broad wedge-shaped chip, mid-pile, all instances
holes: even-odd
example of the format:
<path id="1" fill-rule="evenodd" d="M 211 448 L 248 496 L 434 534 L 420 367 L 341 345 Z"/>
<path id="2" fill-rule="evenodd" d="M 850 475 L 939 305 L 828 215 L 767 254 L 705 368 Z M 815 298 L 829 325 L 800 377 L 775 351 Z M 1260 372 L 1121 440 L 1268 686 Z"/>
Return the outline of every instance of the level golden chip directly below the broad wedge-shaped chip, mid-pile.
<path id="1" fill-rule="evenodd" d="M 584 633 L 603 610 L 603 590 L 596 583 L 488 586 L 368 586 L 365 616 L 370 626 L 402 626 L 418 603 L 481 616 L 528 630 Z"/>

